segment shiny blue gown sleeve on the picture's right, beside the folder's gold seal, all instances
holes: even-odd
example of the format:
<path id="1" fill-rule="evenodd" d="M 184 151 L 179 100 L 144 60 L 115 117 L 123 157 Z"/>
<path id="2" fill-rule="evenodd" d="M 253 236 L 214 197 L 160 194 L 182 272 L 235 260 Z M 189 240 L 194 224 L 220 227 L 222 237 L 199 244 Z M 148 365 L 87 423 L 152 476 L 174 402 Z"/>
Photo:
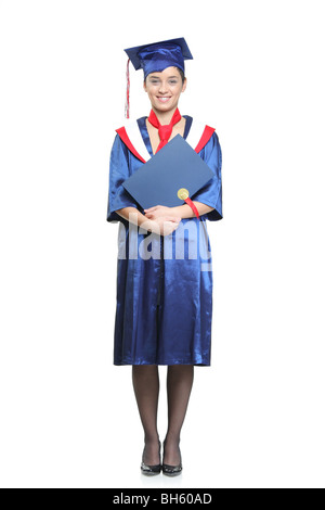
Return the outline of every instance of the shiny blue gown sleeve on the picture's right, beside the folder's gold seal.
<path id="1" fill-rule="evenodd" d="M 222 180 L 221 180 L 221 166 L 222 153 L 219 143 L 219 138 L 216 132 L 199 153 L 200 157 L 211 168 L 214 176 L 209 182 L 202 188 L 197 193 L 192 196 L 192 200 L 202 202 L 203 204 L 213 207 L 213 211 L 203 215 L 203 217 L 210 221 L 222 219 Z"/>

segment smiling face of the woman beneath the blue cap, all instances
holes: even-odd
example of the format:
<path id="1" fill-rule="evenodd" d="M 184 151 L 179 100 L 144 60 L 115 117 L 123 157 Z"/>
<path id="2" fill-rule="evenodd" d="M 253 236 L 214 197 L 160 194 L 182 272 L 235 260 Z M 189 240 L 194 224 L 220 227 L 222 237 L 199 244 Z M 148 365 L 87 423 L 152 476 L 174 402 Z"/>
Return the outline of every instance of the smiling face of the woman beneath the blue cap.
<path id="1" fill-rule="evenodd" d="M 155 110 L 168 112 L 178 106 L 179 98 L 186 89 L 177 67 L 167 67 L 161 73 L 151 73 L 143 85 L 152 106 Z"/>

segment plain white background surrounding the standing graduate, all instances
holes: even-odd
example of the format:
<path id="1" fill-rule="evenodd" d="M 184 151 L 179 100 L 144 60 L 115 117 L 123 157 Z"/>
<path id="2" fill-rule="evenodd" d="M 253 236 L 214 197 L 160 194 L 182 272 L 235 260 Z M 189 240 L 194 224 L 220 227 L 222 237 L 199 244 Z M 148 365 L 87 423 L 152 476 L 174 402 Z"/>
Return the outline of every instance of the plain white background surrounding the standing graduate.
<path id="1" fill-rule="evenodd" d="M 0 2 L 1 486 L 325 486 L 323 4 Z M 113 366 L 108 165 L 123 48 L 177 37 L 194 55 L 180 111 L 220 138 L 224 219 L 183 474 L 147 480 L 131 368 Z M 131 69 L 131 117 L 148 112 Z"/>

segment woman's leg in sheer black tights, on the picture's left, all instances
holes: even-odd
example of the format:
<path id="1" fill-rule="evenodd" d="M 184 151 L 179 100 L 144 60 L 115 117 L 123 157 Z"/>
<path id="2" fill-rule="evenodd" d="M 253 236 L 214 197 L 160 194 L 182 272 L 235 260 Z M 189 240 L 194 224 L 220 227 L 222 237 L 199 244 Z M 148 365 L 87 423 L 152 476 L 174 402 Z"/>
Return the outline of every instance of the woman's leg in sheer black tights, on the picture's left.
<path id="1" fill-rule="evenodd" d="M 159 436 L 157 431 L 158 367 L 156 365 L 133 365 L 132 381 L 144 430 L 143 461 L 148 466 L 159 464 Z"/>

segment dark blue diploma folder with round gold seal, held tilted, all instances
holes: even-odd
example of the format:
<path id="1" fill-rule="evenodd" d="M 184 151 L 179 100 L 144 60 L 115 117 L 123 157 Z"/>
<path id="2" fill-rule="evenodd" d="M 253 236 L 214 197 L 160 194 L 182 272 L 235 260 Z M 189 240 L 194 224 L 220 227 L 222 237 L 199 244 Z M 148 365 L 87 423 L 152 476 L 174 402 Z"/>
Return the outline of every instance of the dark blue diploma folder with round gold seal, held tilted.
<path id="1" fill-rule="evenodd" d="M 183 137 L 177 135 L 122 186 L 144 209 L 154 205 L 174 207 L 192 197 L 213 175 Z"/>

